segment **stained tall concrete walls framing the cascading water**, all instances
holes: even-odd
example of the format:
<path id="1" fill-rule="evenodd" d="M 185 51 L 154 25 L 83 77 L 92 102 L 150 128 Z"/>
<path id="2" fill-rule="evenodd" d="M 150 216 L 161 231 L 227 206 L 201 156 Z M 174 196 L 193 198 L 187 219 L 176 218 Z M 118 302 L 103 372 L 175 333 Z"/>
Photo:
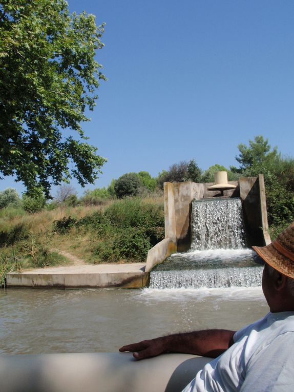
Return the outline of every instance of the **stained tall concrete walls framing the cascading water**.
<path id="1" fill-rule="evenodd" d="M 263 174 L 258 177 L 241 177 L 239 181 L 228 181 L 235 189 L 225 190 L 223 197 L 240 197 L 242 201 L 247 245 L 267 245 L 268 234 L 266 199 Z M 208 191 L 214 183 L 165 182 L 164 221 L 165 239 L 157 244 L 157 253 L 149 251 L 146 270 L 162 262 L 173 252 L 190 249 L 191 205 L 194 199 L 215 197 L 219 191 Z"/>

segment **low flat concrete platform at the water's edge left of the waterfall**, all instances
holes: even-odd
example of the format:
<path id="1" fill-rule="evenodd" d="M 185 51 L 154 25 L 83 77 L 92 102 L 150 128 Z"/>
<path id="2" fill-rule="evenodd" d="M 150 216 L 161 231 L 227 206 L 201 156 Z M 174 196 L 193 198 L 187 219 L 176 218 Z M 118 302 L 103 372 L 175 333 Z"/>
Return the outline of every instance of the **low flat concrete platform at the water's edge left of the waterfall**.
<path id="1" fill-rule="evenodd" d="M 145 263 L 94 264 L 48 267 L 6 276 L 7 287 L 140 288 L 149 279 Z"/>

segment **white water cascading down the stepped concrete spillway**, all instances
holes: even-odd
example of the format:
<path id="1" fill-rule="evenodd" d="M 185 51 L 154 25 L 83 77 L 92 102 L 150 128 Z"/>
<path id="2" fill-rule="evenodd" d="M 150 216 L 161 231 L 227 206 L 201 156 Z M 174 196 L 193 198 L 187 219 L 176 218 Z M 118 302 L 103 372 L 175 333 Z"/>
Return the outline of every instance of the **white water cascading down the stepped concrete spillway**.
<path id="1" fill-rule="evenodd" d="M 262 270 L 256 253 L 246 249 L 241 200 L 195 200 L 191 250 L 157 265 L 150 274 L 150 287 L 259 286 Z"/>

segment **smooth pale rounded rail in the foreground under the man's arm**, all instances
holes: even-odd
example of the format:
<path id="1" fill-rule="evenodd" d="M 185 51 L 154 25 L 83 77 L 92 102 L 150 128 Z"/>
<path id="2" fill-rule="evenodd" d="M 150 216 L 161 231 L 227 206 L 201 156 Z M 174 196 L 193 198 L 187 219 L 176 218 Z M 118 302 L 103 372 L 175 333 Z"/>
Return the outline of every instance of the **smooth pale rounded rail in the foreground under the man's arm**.
<path id="1" fill-rule="evenodd" d="M 211 358 L 130 353 L 1 355 L 1 392 L 179 392 Z"/>

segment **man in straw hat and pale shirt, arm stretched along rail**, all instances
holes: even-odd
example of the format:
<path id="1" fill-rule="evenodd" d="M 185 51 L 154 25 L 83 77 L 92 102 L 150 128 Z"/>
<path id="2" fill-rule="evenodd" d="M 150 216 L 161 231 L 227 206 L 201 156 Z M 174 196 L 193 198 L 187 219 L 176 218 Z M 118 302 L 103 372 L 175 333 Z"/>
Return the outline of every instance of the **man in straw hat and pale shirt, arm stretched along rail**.
<path id="1" fill-rule="evenodd" d="M 294 390 L 294 222 L 267 246 L 254 246 L 265 261 L 262 290 L 270 312 L 239 331 L 208 329 L 144 340 L 120 348 L 136 359 L 161 353 L 215 358 L 187 391 Z"/>

